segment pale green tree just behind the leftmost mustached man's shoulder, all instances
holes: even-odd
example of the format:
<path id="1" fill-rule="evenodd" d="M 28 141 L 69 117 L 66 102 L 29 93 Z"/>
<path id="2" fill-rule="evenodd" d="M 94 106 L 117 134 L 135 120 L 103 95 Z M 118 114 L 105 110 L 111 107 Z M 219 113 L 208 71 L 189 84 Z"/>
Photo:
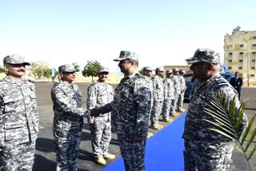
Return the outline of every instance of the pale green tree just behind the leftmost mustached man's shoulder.
<path id="1" fill-rule="evenodd" d="M 30 68 L 31 74 L 34 75 L 34 79 L 51 77 L 51 69 L 46 62 L 31 62 Z"/>

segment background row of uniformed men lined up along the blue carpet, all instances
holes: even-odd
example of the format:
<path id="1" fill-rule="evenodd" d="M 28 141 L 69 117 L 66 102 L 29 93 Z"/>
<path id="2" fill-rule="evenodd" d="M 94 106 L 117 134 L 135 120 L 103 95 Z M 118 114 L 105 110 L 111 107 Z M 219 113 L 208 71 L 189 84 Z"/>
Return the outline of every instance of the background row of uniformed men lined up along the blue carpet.
<path id="1" fill-rule="evenodd" d="M 143 74 L 151 78 L 153 85 L 153 107 L 150 113 L 150 128 L 162 129 L 162 125 L 158 124 L 158 117 L 162 113 L 163 121 L 171 122 L 169 116 L 177 116 L 176 108 L 179 112 L 185 112 L 182 108 L 184 100 L 184 92 L 186 90 L 186 81 L 183 77 L 184 70 L 166 70 L 166 78 L 162 79 L 165 70 L 158 67 L 153 75 L 150 66 L 143 68 Z M 150 137 L 150 134 L 149 134 Z"/>

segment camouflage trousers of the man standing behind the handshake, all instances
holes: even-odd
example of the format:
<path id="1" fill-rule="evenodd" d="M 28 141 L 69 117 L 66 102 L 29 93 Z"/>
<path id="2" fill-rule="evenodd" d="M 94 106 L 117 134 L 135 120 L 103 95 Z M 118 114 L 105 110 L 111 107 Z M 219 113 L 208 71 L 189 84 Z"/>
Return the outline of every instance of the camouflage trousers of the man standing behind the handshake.
<path id="1" fill-rule="evenodd" d="M 94 117 L 90 125 L 91 145 L 95 157 L 108 153 L 111 141 L 111 122 L 108 117 Z"/>

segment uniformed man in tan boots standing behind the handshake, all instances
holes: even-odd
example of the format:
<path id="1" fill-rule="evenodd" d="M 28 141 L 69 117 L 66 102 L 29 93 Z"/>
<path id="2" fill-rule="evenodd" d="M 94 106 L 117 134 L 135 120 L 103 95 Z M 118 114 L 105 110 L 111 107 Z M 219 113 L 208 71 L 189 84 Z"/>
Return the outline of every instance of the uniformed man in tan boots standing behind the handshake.
<path id="1" fill-rule="evenodd" d="M 108 68 L 104 66 L 98 68 L 98 81 L 91 84 L 87 90 L 87 109 L 101 107 L 113 101 L 114 89 L 106 82 L 108 74 Z M 110 160 L 115 158 L 114 154 L 108 153 L 111 141 L 111 113 L 90 116 L 88 122 L 95 161 L 99 165 L 106 165 L 104 158 Z"/>

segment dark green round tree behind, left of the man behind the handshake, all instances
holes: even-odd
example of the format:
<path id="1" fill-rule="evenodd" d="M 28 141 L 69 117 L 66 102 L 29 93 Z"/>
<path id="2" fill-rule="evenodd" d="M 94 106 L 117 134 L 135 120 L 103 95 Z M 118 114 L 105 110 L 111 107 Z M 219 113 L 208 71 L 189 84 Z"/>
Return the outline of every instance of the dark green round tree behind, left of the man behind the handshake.
<path id="1" fill-rule="evenodd" d="M 87 61 L 86 66 L 82 70 L 82 75 L 84 77 L 91 77 L 91 82 L 94 81 L 94 77 L 97 77 L 98 68 L 101 66 L 101 63 L 98 61 Z"/>

